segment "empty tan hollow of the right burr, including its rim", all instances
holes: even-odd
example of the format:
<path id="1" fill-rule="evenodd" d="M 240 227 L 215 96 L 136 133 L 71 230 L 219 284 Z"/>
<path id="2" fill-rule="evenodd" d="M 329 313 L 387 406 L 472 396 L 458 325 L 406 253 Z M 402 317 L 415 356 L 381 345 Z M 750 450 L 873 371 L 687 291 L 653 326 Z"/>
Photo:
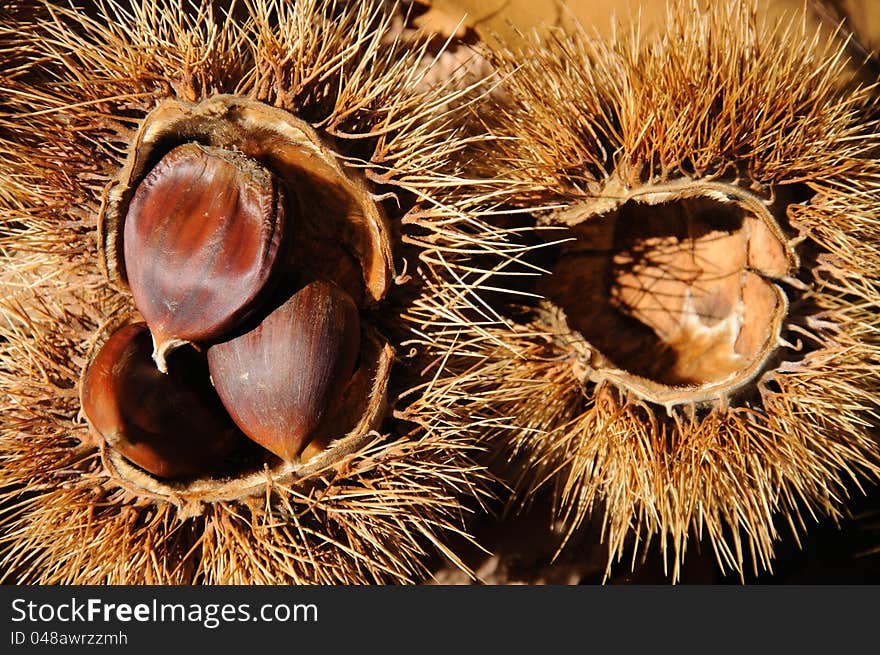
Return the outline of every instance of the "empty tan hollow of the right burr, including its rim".
<path id="1" fill-rule="evenodd" d="M 733 182 L 679 179 L 625 188 L 611 181 L 600 197 L 544 216 L 546 225 L 579 230 L 563 258 L 568 263 L 545 278 L 548 300 L 539 310 L 560 347 L 576 353 L 576 377 L 610 382 L 668 408 L 723 402 L 753 383 L 786 345 L 788 296 L 780 284 L 799 267 L 796 239 L 786 236 L 769 205 Z M 665 234 L 670 223 L 682 233 Z M 663 230 L 651 232 L 658 225 Z M 620 233 L 640 229 L 632 252 L 619 252 Z M 585 247 L 592 255 L 578 256 Z M 607 293 L 598 290 L 603 284 L 616 292 L 604 302 L 596 298 Z M 659 343 L 657 353 L 639 343 L 646 331 Z M 594 342 L 604 334 L 616 342 L 631 336 L 630 356 L 654 371 L 616 360 Z M 654 354 L 673 361 L 657 362 Z"/>

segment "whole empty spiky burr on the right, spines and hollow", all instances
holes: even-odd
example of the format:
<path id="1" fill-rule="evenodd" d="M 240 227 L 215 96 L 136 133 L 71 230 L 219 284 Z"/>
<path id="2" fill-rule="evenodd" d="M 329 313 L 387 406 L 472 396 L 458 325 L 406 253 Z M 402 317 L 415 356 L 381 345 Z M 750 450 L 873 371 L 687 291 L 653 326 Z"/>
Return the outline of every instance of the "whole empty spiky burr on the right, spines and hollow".
<path id="1" fill-rule="evenodd" d="M 644 41 L 495 51 L 499 138 L 467 161 L 498 193 L 419 222 L 414 314 L 431 401 L 489 426 L 511 509 L 550 488 L 609 567 L 656 543 L 675 580 L 695 540 L 769 569 L 780 524 L 877 480 L 880 144 L 839 43 L 670 9 Z"/>

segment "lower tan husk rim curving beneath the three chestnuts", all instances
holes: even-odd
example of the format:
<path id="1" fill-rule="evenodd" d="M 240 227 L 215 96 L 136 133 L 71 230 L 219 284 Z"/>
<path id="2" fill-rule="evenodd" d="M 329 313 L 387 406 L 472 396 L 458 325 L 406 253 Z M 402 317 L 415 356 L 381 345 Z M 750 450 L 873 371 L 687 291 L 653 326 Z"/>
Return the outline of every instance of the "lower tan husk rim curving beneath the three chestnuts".
<path id="1" fill-rule="evenodd" d="M 108 322 L 96 335 L 89 363 L 116 329 L 139 317 L 124 316 Z M 358 452 L 376 436 L 387 411 L 387 387 L 394 350 L 368 324 L 361 330 L 360 367 L 345 390 L 342 410 L 323 423 L 302 453 L 299 462 L 284 462 L 265 453 L 241 471 L 188 479 L 162 479 L 130 462 L 89 425 L 89 434 L 100 449 L 104 467 L 117 484 L 139 497 L 171 502 L 184 513 L 197 514 L 203 503 L 260 496 L 267 485 L 302 483 L 325 469 L 338 465 Z M 82 376 L 88 370 L 83 368 Z M 79 388 L 83 388 L 82 378 Z M 86 417 L 88 419 L 88 417 Z"/>

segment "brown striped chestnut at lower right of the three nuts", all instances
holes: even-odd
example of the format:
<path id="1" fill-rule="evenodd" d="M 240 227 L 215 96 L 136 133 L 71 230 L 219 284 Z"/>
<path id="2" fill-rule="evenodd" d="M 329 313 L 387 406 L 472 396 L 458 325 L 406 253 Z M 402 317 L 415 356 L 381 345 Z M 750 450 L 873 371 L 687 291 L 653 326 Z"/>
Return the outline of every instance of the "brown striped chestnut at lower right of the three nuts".
<path id="1" fill-rule="evenodd" d="M 211 346 L 208 366 L 242 431 L 292 462 L 336 410 L 359 350 L 354 301 L 334 284 L 313 281 L 251 331 Z"/>

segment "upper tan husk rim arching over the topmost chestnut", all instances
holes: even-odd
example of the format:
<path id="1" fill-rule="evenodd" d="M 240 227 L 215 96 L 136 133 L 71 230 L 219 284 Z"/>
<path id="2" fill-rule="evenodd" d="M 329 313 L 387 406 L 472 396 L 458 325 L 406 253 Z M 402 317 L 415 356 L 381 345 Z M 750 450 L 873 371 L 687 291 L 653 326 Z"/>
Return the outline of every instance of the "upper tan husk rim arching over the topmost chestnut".
<path id="1" fill-rule="evenodd" d="M 393 279 L 389 229 L 365 183 L 355 171 L 343 168 L 304 121 L 232 95 L 213 96 L 198 104 L 167 99 L 143 120 L 125 165 L 107 185 L 98 218 L 101 265 L 111 283 L 128 288 L 123 224 L 138 184 L 167 152 L 186 142 L 240 151 L 278 175 L 289 201 L 298 205 L 293 248 L 298 247 L 297 240 L 337 245 L 340 252 L 333 254 L 353 257 L 359 264 L 365 301 L 378 302 L 385 296 Z M 314 256 L 322 258 L 322 254 Z"/>

